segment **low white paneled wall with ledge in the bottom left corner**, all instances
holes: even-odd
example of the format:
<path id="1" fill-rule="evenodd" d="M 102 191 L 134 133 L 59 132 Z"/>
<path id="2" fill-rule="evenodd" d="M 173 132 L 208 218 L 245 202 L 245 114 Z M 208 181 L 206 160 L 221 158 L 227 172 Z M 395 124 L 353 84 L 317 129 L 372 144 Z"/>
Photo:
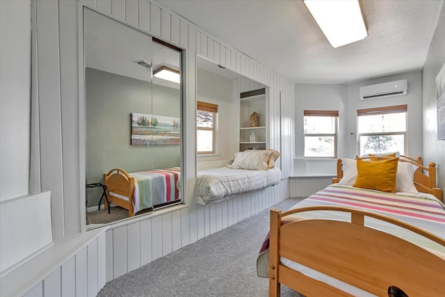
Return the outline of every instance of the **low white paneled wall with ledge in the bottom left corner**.
<path id="1" fill-rule="evenodd" d="M 0 296 L 97 296 L 106 282 L 106 234 L 70 236 L 0 278 Z"/>

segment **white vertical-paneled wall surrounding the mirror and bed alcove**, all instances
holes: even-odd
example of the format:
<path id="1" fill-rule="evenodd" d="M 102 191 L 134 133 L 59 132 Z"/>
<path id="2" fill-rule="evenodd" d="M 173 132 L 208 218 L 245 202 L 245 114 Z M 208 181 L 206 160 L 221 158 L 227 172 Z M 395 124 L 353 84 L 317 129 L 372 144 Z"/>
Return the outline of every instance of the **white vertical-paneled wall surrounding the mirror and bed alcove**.
<path id="1" fill-rule="evenodd" d="M 42 190 L 57 194 L 51 197 L 56 239 L 85 232 L 85 104 L 81 63 L 83 6 L 185 50 L 183 168 L 186 206 L 172 207 L 160 215 L 128 220 L 107 230 L 103 243 L 106 263 L 97 262 L 96 268 L 93 267 L 96 264 L 86 266 L 97 271 L 98 275 L 97 284 L 93 282 L 86 286 L 88 292 L 102 287 L 102 268 L 106 281 L 113 280 L 289 197 L 289 174 L 293 160 L 292 112 L 295 110 L 293 83 L 156 1 L 33 0 L 33 5 L 39 28 L 35 32 L 38 45 L 38 99 L 40 106 L 45 107 L 44 110 L 40 109 L 40 129 L 46 131 L 40 142 Z M 196 55 L 268 87 L 266 110 L 270 125 L 269 143 L 270 147 L 281 152 L 277 166 L 283 173 L 282 182 L 277 186 L 209 206 L 195 203 Z M 50 156 L 51 159 L 55 156 L 56 162 L 46 161 Z M 54 172 L 59 172 L 56 182 Z M 70 278 L 66 280 L 69 282 Z"/>

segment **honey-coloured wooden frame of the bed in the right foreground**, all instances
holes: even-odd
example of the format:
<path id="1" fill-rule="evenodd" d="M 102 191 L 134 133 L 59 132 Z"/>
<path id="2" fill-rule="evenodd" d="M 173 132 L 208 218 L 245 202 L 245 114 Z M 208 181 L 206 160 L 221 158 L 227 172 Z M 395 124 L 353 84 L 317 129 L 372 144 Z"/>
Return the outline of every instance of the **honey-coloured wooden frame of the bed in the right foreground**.
<path id="1" fill-rule="evenodd" d="M 428 168 L 421 159 L 416 163 L 414 184 L 418 191 L 442 200 L 436 186 L 435 163 Z M 341 159 L 337 166 L 338 182 L 343 176 Z M 428 176 L 423 174 L 427 170 Z M 350 222 L 327 219 L 300 219 L 282 225 L 282 218 L 303 211 L 334 210 L 350 213 Z M 270 211 L 269 296 L 280 296 L 280 284 L 306 296 L 351 296 L 329 284 L 309 278 L 280 262 L 285 257 L 313 268 L 377 296 L 388 296 L 396 286 L 407 296 L 443 296 L 445 292 L 445 253 L 426 250 L 403 239 L 364 225 L 371 217 L 416 232 L 445 248 L 445 240 L 400 220 L 347 207 L 317 206 Z M 314 235 L 315 234 L 315 235 Z M 329 244 L 326 244 L 329 243 Z"/>

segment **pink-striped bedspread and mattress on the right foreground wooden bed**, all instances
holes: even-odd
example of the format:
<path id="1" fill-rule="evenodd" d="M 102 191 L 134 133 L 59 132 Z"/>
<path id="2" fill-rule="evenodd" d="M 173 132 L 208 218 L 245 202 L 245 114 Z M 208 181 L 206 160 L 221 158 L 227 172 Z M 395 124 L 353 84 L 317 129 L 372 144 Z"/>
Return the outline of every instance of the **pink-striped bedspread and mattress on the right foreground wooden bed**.
<path id="1" fill-rule="evenodd" d="M 397 218 L 398 220 L 420 227 L 423 230 L 445 239 L 445 205 L 442 202 L 439 202 L 435 196 L 430 194 L 391 194 L 362 188 L 353 188 L 353 186 L 332 184 L 296 204 L 292 209 L 316 205 L 334 205 L 373 211 L 378 214 Z M 339 211 L 307 211 L 295 214 L 293 217 L 329 218 L 350 221 L 350 214 Z M 284 217 L 282 220 L 286 221 L 286 219 L 293 220 L 293 218 L 288 217 Z M 418 234 L 414 234 L 407 230 L 402 230 L 401 227 L 373 218 L 365 218 L 365 225 L 401 237 L 402 239 L 415 243 L 427 250 L 431 250 L 432 252 L 435 252 L 436 255 L 439 255 L 439 257 L 444 257 L 445 259 L 445 249 L 442 246 L 439 246 L 439 244 L 425 239 L 423 236 L 419 236 Z M 268 277 L 269 255 L 268 249 L 265 249 L 267 243 L 268 242 L 265 241 L 259 257 L 257 258 L 258 276 L 264 278 Z M 335 280 L 323 273 L 318 273 L 312 268 L 291 262 L 289 259 L 281 258 L 280 261 L 285 266 L 289 266 L 290 268 L 300 271 L 305 275 L 309 275 L 311 278 L 315 278 L 321 282 L 331 284 L 354 296 L 372 296 L 366 291 L 362 291 L 349 284 Z"/>

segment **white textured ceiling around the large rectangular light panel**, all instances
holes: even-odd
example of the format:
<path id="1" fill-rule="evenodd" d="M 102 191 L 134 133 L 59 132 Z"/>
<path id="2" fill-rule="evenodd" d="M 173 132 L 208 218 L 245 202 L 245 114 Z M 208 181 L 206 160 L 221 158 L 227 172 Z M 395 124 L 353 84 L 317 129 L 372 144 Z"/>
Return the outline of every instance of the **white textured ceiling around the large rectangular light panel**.
<path id="1" fill-rule="evenodd" d="M 157 0 L 295 83 L 353 83 L 423 67 L 443 0 L 362 0 L 368 37 L 334 49 L 301 0 Z"/>

